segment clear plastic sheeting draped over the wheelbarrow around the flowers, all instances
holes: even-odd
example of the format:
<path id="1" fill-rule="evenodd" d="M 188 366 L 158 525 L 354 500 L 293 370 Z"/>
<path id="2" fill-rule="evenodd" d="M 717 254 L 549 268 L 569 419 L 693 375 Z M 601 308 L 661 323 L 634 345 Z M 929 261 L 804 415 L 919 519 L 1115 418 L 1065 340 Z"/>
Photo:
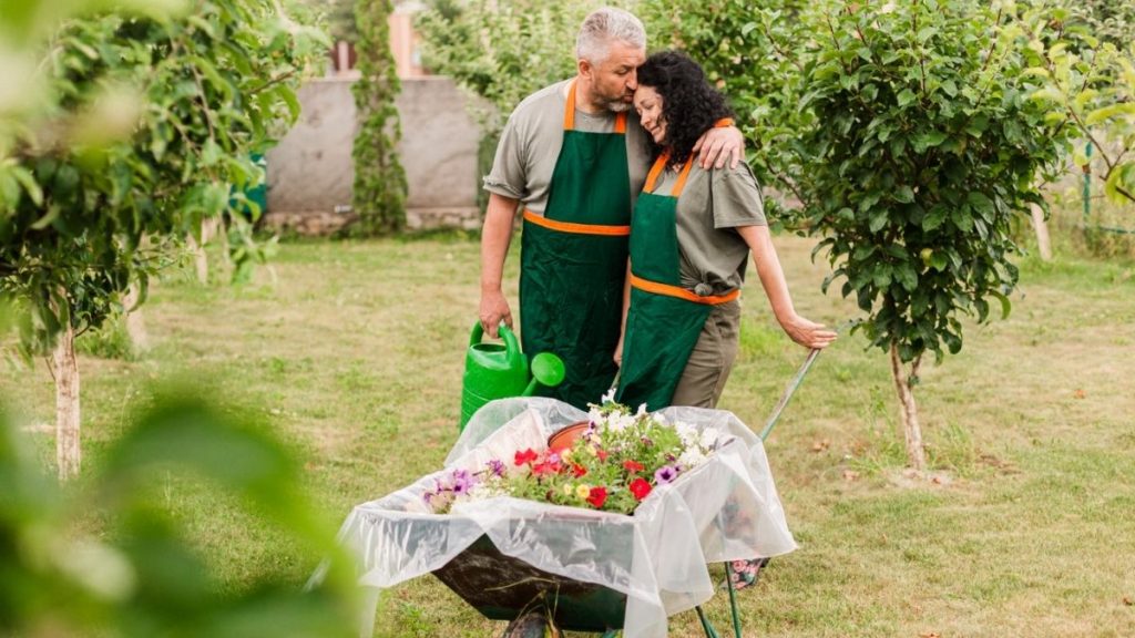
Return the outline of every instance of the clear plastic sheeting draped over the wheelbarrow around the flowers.
<path id="1" fill-rule="evenodd" d="M 444 472 L 478 470 L 493 457 L 511 462 L 516 450 L 543 450 L 548 436 L 587 419 L 549 398 L 485 405 L 446 469 L 358 505 L 347 517 L 339 539 L 360 560 L 360 584 L 388 588 L 429 573 L 486 535 L 506 556 L 625 594 L 625 638 L 665 637 L 667 616 L 713 596 L 707 563 L 776 556 L 796 543 L 764 446 L 745 423 L 720 410 L 659 413 L 671 423 L 715 428 L 722 443 L 705 463 L 655 487 L 633 517 L 511 497 L 461 502 L 448 514 L 434 514 L 423 494 Z"/>

